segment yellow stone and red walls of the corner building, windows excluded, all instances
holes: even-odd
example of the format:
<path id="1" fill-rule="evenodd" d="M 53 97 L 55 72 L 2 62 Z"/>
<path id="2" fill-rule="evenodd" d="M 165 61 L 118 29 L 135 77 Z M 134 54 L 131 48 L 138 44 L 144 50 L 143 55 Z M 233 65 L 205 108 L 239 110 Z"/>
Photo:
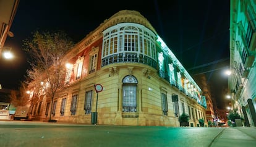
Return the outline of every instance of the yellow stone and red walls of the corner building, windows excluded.
<path id="1" fill-rule="evenodd" d="M 111 27 L 118 28 L 121 25 L 124 25 L 119 25 L 119 23 L 125 22 L 129 22 L 129 25 L 142 28 L 147 27 L 144 29 L 151 31 L 151 35 L 155 35 L 153 40 L 154 44 L 150 45 L 152 51 L 156 52 L 151 52 L 151 54 L 160 52 L 164 54 L 164 60 L 166 60 L 164 65 L 166 64 L 166 66 L 162 72 L 165 72 L 165 75 L 160 74 L 160 67 L 158 64 L 156 66 L 153 64 L 154 62 L 158 63 L 158 57 L 154 57 L 154 55 L 152 55 L 151 59 L 149 56 L 148 58 L 143 56 L 145 62 L 124 60 L 123 62 L 114 61 L 111 63 L 105 62 L 103 64 L 102 57 L 104 56 L 102 54 L 104 46 L 103 40 L 105 36 L 103 36 L 101 32 Z M 141 37 L 143 38 L 144 36 Z M 91 124 L 91 112 L 98 112 L 97 124 L 161 125 L 177 127 L 179 126 L 178 117 L 184 112 L 191 115 L 190 124 L 193 124 L 194 126 L 197 126 L 198 119 L 206 120 L 206 104 L 203 106 L 203 100 L 200 99 L 201 95 L 198 95 L 198 93 L 200 93 L 200 88 L 198 88 L 198 85 L 182 67 L 179 61 L 177 61 L 176 57 L 171 53 L 171 50 L 167 47 L 163 47 L 163 43 L 160 44 L 159 41 L 156 41 L 156 38 L 156 31 L 151 27 L 147 19 L 136 11 L 117 12 L 110 19 L 101 23 L 100 27 L 89 33 L 89 35 L 80 41 L 75 48 L 71 49 L 69 54 L 67 54 L 67 57 L 69 57 L 68 62 L 73 64 L 73 69 L 67 72 L 67 75 L 70 73 L 70 77 L 67 78 L 68 80 L 65 83 L 65 88 L 54 96 L 53 101 L 57 101 L 57 104 L 55 114 L 52 115 L 51 119 L 58 120 L 59 122 Z M 144 49 L 145 45 L 146 44 L 141 44 L 140 49 L 142 49 L 142 46 Z M 147 51 L 145 52 L 148 53 Z M 145 52 L 143 50 L 143 52 L 139 53 L 144 54 Z M 96 56 L 94 56 L 95 54 Z M 96 61 L 93 61 L 93 59 L 96 59 Z M 171 84 L 170 79 L 165 77 L 169 72 L 168 63 L 171 61 L 175 64 L 175 71 L 179 70 L 180 75 L 175 76 L 176 78 L 179 77 L 179 83 L 176 82 Z M 76 78 L 77 73 L 79 73 L 77 72 L 79 63 L 82 63 L 82 73 L 80 78 Z M 92 63 L 95 63 L 96 66 Z M 92 70 L 92 67 L 95 67 L 95 69 Z M 126 76 L 132 76 L 137 80 L 137 83 L 132 83 L 136 85 L 135 112 L 126 112 L 122 107 L 125 85 L 122 81 Z M 183 82 L 185 79 L 187 79 L 187 83 Z M 96 84 L 103 85 L 103 91 L 96 93 L 94 89 Z M 189 86 L 193 85 L 192 88 L 190 88 L 192 89 L 190 92 L 189 88 L 182 86 L 185 84 Z M 197 91 L 194 91 L 194 88 Z M 91 112 L 88 112 L 88 114 L 85 114 L 86 92 L 90 90 L 92 90 L 92 110 Z M 164 103 L 164 106 L 167 107 L 167 112 L 163 111 L 164 100 L 161 97 L 163 95 L 162 93 L 166 94 L 166 103 Z M 74 101 L 72 102 L 72 96 L 75 94 L 78 95 L 78 98 L 75 114 L 72 115 L 71 109 L 72 104 L 74 104 Z M 177 103 L 173 101 L 174 94 L 178 97 Z M 61 116 L 61 101 L 63 98 L 66 98 L 66 105 L 64 106 L 64 115 Z M 42 102 L 40 115 L 31 115 L 30 117 L 32 119 L 47 121 L 49 119 L 49 110 L 48 112 L 46 111 L 46 105 L 47 103 L 51 103 L 51 99 L 45 97 L 40 101 Z M 176 112 L 174 107 L 176 105 L 174 103 L 179 107 L 178 112 Z M 45 113 L 48 115 L 45 115 Z"/>

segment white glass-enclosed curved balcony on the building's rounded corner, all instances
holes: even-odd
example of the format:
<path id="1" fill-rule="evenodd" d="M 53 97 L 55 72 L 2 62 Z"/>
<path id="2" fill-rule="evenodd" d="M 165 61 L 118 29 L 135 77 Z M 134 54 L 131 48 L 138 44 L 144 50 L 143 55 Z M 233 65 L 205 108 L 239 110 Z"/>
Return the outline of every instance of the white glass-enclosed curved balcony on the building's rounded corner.
<path id="1" fill-rule="evenodd" d="M 119 23 L 103 31 L 101 67 L 137 62 L 157 69 L 156 35 L 137 23 Z"/>

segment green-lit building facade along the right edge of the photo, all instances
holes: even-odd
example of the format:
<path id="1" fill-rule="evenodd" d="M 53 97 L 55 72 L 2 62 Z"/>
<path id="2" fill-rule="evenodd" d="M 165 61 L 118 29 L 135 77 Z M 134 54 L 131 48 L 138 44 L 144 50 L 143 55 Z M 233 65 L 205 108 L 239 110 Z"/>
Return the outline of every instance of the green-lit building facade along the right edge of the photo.
<path id="1" fill-rule="evenodd" d="M 229 90 L 245 126 L 256 126 L 256 3 L 231 1 Z"/>

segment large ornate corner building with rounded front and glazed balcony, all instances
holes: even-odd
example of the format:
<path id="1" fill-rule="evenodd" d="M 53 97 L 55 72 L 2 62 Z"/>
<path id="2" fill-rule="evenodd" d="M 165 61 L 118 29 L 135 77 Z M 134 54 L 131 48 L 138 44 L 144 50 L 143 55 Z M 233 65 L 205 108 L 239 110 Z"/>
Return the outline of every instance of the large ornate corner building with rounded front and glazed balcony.
<path id="1" fill-rule="evenodd" d="M 100 125 L 178 127 L 183 112 L 190 126 L 206 120 L 197 83 L 137 11 L 105 20 L 67 58 L 65 88 L 53 101 L 52 119 L 58 122 L 92 124 L 95 111 Z M 103 91 L 96 93 L 96 84 Z M 46 97 L 38 101 L 31 117 L 47 121 L 50 103 Z"/>

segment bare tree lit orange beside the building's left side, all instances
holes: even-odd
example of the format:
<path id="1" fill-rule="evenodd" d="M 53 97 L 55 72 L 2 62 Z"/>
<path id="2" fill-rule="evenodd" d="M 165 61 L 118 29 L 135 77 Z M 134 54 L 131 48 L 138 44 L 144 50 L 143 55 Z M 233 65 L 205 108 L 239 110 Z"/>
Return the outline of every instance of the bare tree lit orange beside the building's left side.
<path id="1" fill-rule="evenodd" d="M 64 31 L 35 31 L 32 39 L 25 40 L 24 45 L 23 50 L 28 52 L 31 59 L 31 69 L 27 71 L 30 86 L 38 96 L 46 94 L 47 98 L 51 98 L 50 121 L 54 95 L 62 88 L 66 74 L 64 55 L 74 43 Z"/>

